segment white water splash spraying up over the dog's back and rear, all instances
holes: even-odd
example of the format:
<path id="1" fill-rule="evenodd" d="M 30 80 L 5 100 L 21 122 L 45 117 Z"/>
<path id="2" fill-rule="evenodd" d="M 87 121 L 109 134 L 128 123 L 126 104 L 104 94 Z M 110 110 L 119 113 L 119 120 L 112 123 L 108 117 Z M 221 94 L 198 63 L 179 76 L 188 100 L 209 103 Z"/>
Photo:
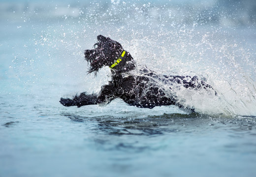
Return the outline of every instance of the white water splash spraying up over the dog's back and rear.
<path id="1" fill-rule="evenodd" d="M 203 114 L 255 115 L 256 55 L 250 51 L 252 46 L 234 39 L 222 28 L 182 29 L 135 35 L 129 51 L 139 64 L 160 73 L 205 77 L 218 93 L 215 96 L 208 91 L 176 90 L 185 106 Z"/>

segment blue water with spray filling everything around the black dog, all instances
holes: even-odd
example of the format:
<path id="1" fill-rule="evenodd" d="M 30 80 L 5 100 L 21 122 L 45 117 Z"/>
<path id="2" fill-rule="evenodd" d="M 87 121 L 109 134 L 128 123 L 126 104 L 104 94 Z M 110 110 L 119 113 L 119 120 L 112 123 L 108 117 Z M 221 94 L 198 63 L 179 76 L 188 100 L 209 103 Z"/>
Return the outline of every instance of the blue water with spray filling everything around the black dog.
<path id="1" fill-rule="evenodd" d="M 0 177 L 252 177 L 256 174 L 253 0 L 0 1 Z M 207 78 L 217 96 L 175 106 L 64 107 L 97 92 L 83 51 L 102 34 L 163 74 Z"/>

